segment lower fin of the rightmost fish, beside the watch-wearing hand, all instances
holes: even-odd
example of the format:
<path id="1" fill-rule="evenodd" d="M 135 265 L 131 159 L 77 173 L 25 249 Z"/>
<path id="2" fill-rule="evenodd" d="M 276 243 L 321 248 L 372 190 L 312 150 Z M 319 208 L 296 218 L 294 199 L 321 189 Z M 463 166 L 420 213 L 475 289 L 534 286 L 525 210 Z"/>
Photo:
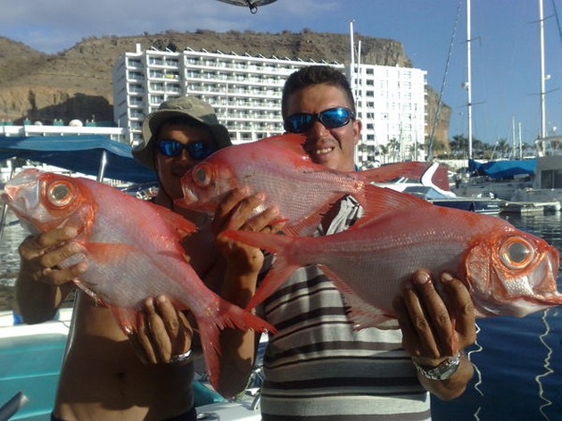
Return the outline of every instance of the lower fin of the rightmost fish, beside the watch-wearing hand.
<path id="1" fill-rule="evenodd" d="M 361 330 L 366 327 L 386 329 L 398 328 L 396 318 L 392 314 L 388 314 L 388 312 L 377 309 L 375 306 L 361 299 L 360 296 L 349 287 L 349 285 L 347 285 L 325 265 L 318 266 L 325 273 L 326 277 L 330 278 L 338 291 L 342 293 L 343 302 L 349 308 L 348 317 L 351 319 L 353 330 Z"/>

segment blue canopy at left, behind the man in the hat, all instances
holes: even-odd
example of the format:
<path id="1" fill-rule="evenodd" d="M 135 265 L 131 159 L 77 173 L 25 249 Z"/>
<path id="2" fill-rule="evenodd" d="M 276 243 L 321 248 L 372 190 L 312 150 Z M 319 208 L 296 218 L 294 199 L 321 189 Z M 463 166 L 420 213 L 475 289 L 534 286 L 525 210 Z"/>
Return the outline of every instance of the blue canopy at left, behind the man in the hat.
<path id="1" fill-rule="evenodd" d="M 44 162 L 97 176 L 106 151 L 104 177 L 133 183 L 156 181 L 156 174 L 135 161 L 131 147 L 100 135 L 0 136 L 0 160 L 12 157 Z"/>

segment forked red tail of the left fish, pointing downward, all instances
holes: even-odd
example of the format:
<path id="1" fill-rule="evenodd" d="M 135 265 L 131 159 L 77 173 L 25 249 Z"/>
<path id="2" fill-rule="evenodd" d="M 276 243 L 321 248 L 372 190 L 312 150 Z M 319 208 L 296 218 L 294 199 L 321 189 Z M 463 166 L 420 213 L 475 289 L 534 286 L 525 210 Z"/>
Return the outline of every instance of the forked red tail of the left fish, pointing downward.
<path id="1" fill-rule="evenodd" d="M 216 389 L 219 384 L 220 330 L 225 327 L 236 327 L 244 331 L 251 329 L 254 332 L 268 331 L 276 334 L 277 329 L 250 311 L 222 300 L 218 295 L 215 295 L 214 298 L 211 307 L 205 311 L 205 316 L 195 315 L 195 318 L 197 318 L 205 365 L 209 372 L 211 385 Z"/>

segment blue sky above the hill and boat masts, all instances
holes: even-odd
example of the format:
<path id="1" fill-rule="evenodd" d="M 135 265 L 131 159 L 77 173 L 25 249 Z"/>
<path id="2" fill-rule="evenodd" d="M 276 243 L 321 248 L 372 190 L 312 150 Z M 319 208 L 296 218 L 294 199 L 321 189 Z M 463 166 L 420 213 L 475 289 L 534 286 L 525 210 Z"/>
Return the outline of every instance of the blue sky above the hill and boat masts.
<path id="1" fill-rule="evenodd" d="M 0 0 L 0 36 L 45 53 L 84 37 L 157 33 L 167 29 L 230 29 L 346 33 L 401 41 L 414 66 L 452 108 L 450 137 L 467 136 L 467 0 L 277 0 L 251 14 L 217 0 Z M 473 136 L 487 143 L 523 142 L 540 133 L 540 0 L 472 0 Z M 77 5 L 79 4 L 79 5 Z M 157 7 L 154 7 L 154 5 Z M 562 0 L 543 0 L 546 120 L 562 134 Z M 453 37 L 454 33 L 454 37 Z M 448 56 L 449 65 L 447 66 Z M 447 71 L 445 71 L 447 70 Z M 443 79 L 445 84 L 443 86 Z"/>

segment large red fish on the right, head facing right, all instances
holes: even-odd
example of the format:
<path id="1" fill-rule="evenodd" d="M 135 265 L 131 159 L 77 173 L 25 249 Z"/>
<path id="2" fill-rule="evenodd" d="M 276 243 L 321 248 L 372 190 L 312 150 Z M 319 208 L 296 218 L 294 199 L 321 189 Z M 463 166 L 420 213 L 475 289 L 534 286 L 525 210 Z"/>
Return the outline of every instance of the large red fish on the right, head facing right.
<path id="1" fill-rule="evenodd" d="M 464 280 L 478 317 L 525 316 L 562 304 L 558 251 L 507 221 L 435 206 L 409 194 L 374 187 L 379 217 L 360 219 L 334 235 L 290 237 L 226 231 L 276 253 L 273 268 L 248 308 L 263 301 L 296 268 L 319 264 L 351 306 L 357 328 L 380 326 L 393 315 L 401 283 L 419 268 Z"/>

